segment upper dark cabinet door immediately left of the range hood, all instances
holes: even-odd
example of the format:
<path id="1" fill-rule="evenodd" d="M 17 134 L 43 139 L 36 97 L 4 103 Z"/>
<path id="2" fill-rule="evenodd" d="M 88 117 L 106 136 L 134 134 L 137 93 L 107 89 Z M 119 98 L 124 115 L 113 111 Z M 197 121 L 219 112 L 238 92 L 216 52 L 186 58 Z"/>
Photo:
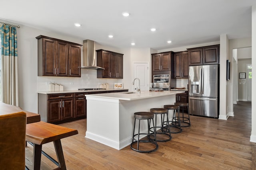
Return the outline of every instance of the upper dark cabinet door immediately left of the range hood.
<path id="1" fill-rule="evenodd" d="M 68 70 L 70 77 L 81 77 L 81 46 L 69 44 Z"/>

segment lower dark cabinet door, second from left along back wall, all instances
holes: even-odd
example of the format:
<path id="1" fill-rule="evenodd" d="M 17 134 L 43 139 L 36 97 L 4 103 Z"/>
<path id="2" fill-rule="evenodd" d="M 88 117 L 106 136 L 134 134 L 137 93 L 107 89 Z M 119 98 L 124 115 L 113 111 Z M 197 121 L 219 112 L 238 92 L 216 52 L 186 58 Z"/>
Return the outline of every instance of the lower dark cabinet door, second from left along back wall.
<path id="1" fill-rule="evenodd" d="M 62 120 L 73 118 L 74 99 L 62 99 Z"/>

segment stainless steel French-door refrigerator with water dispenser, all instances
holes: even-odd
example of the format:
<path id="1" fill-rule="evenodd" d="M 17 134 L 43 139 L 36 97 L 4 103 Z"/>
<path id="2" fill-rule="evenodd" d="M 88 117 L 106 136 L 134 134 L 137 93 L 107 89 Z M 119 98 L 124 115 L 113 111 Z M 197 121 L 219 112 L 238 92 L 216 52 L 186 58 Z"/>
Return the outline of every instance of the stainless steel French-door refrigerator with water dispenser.
<path id="1" fill-rule="evenodd" d="M 208 117 L 219 115 L 219 65 L 189 66 L 189 113 Z"/>

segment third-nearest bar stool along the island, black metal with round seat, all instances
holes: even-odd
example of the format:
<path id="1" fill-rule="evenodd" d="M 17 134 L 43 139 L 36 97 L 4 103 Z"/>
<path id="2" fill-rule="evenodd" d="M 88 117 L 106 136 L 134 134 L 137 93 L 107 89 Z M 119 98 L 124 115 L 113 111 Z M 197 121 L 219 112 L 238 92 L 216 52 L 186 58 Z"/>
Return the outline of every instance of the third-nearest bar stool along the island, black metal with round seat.
<path id="1" fill-rule="evenodd" d="M 169 120 L 170 123 L 170 129 L 171 129 L 171 133 L 181 133 L 182 129 L 180 126 L 180 106 L 178 105 L 164 105 L 164 108 L 168 109 L 168 110 L 173 110 L 173 114 L 172 114 L 172 121 Z M 167 121 L 164 121 L 164 125 L 167 124 Z M 174 127 L 175 129 L 177 129 L 176 131 L 172 131 L 172 127 Z"/>

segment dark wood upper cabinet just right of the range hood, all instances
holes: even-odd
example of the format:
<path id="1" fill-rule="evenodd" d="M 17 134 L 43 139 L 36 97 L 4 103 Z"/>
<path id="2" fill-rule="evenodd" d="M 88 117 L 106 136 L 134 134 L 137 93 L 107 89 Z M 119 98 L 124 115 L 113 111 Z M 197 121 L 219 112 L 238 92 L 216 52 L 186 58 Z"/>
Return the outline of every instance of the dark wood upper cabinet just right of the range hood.
<path id="1" fill-rule="evenodd" d="M 123 54 L 106 50 L 97 51 L 97 66 L 105 70 L 97 70 L 97 78 L 123 78 Z"/>

